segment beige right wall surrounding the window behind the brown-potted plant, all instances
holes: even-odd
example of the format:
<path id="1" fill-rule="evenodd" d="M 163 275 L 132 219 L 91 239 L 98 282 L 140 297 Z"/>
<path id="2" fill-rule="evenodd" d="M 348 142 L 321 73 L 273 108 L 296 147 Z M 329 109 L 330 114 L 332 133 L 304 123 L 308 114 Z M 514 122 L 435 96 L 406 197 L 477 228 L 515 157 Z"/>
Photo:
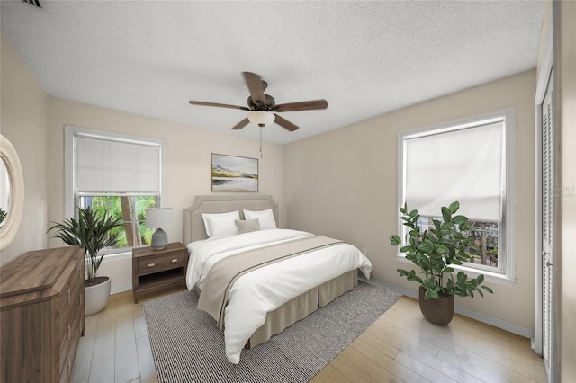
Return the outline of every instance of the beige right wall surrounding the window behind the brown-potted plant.
<path id="1" fill-rule="evenodd" d="M 287 226 L 365 247 L 375 278 L 416 290 L 398 276 L 406 263 L 388 239 L 398 231 L 398 132 L 515 107 L 517 283 L 491 283 L 493 296 L 456 304 L 533 329 L 535 92 L 531 70 L 285 146 Z"/>

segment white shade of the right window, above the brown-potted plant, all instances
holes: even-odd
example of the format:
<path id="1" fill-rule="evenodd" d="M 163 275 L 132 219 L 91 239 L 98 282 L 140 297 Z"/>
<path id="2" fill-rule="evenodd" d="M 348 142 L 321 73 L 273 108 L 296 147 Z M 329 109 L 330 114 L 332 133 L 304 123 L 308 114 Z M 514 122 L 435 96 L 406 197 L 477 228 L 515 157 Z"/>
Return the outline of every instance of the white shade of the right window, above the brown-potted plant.
<path id="1" fill-rule="evenodd" d="M 409 209 L 438 216 L 460 202 L 459 214 L 500 222 L 505 176 L 504 120 L 404 140 L 404 195 Z"/>

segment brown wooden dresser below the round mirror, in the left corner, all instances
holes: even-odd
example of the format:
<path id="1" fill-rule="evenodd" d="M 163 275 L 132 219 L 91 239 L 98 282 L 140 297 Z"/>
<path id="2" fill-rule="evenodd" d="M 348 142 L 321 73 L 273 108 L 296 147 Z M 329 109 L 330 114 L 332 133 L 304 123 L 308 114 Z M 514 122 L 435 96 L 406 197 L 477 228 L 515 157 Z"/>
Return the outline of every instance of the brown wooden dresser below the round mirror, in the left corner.
<path id="1" fill-rule="evenodd" d="M 0 381 L 67 382 L 85 332 L 84 250 L 28 252 L 0 268 Z"/>

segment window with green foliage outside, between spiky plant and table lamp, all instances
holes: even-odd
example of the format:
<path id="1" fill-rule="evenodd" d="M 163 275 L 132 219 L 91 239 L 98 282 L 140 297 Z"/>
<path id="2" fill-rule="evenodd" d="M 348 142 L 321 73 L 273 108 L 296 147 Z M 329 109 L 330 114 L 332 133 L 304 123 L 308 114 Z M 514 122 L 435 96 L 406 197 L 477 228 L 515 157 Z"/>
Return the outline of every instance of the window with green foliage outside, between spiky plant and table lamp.
<path id="1" fill-rule="evenodd" d="M 89 206 L 120 218 L 121 239 L 109 253 L 149 245 L 153 229 L 144 222 L 146 209 L 162 206 L 164 141 L 66 127 L 65 146 L 66 217 Z"/>

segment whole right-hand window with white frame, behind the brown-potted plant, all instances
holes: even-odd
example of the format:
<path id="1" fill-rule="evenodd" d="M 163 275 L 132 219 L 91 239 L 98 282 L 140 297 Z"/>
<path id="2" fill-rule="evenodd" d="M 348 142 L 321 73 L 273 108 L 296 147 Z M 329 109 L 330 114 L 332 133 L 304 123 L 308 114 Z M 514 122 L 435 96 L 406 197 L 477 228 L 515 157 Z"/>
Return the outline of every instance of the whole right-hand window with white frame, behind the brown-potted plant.
<path id="1" fill-rule="evenodd" d="M 476 227 L 468 235 L 479 247 L 463 269 L 514 279 L 514 110 L 402 132 L 399 205 L 418 209 L 420 230 L 442 220 L 440 208 L 455 200 L 459 214 Z M 400 232 L 407 233 L 399 219 Z"/>

